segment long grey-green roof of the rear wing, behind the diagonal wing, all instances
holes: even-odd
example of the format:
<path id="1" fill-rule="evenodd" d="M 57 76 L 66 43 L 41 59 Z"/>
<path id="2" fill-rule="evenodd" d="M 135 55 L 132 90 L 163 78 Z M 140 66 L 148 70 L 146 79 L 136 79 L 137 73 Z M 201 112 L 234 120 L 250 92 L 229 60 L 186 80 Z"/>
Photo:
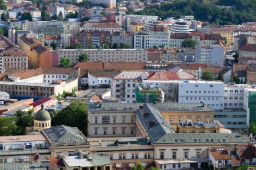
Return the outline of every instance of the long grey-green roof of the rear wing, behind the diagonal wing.
<path id="1" fill-rule="evenodd" d="M 98 110 L 130 110 L 135 111 L 139 109 L 144 103 L 117 103 L 117 102 L 103 102 L 93 103 L 89 106 L 90 111 Z M 203 103 L 148 103 L 159 111 L 191 111 L 191 112 L 214 112 L 214 110 L 207 105 L 203 106 Z"/>

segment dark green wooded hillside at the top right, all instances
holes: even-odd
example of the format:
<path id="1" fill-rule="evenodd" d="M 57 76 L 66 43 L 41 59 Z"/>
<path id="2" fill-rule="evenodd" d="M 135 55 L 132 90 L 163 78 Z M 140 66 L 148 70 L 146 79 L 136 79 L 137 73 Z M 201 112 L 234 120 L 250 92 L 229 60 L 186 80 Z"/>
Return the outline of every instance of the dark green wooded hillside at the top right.
<path id="1" fill-rule="evenodd" d="M 158 15 L 161 19 L 194 15 L 199 21 L 224 25 L 256 22 L 255 9 L 255 0 L 174 0 L 146 7 L 135 14 Z"/>

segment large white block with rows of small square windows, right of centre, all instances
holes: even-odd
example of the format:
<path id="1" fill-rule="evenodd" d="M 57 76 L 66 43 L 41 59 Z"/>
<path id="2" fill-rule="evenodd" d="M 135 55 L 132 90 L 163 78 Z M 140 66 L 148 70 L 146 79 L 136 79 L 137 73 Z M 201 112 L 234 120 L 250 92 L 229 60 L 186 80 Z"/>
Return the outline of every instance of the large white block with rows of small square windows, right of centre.
<path id="1" fill-rule="evenodd" d="M 181 81 L 179 103 L 205 103 L 214 110 L 224 108 L 224 83 L 222 81 Z"/>

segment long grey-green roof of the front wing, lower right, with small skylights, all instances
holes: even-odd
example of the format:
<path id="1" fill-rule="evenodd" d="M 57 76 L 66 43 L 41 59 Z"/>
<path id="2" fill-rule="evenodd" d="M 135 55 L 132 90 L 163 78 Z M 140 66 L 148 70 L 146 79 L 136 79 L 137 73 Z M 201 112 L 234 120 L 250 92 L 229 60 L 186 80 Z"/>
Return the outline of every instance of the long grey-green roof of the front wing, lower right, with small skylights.
<path id="1" fill-rule="evenodd" d="M 241 134 L 219 134 L 219 133 L 176 133 L 176 134 L 165 134 L 159 138 L 156 144 L 181 144 L 181 143 L 212 143 L 212 144 L 240 144 L 247 143 L 249 138 Z"/>

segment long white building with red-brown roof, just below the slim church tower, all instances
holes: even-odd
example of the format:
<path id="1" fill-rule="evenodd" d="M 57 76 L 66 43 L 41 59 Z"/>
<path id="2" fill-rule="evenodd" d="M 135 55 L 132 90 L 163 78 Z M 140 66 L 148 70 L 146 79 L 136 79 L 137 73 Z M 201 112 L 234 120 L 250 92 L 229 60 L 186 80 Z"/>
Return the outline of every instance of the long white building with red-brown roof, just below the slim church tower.
<path id="1" fill-rule="evenodd" d="M 98 22 L 87 22 L 81 24 L 81 30 L 98 30 L 107 31 L 110 33 L 121 32 L 122 28 L 117 23 L 98 23 Z"/>

